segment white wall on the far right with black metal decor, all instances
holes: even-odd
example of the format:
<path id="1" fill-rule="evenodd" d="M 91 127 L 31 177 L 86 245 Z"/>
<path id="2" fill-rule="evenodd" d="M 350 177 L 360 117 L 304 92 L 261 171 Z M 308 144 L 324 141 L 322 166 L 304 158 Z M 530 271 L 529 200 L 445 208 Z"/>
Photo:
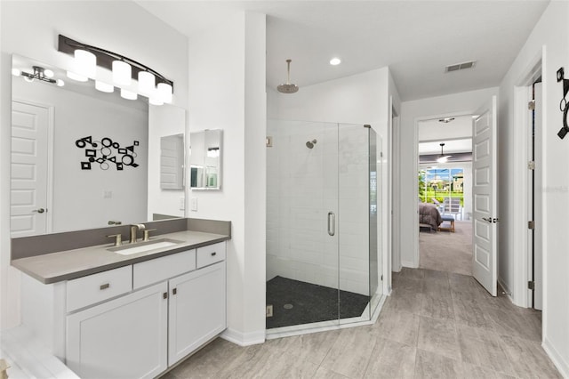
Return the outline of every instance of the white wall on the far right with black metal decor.
<path id="1" fill-rule="evenodd" d="M 569 71 L 569 2 L 552 1 L 543 12 L 524 47 L 501 82 L 499 97 L 499 138 L 506 159 L 500 164 L 501 194 L 516 192 L 514 159 L 516 147 L 513 143 L 517 130 L 514 117 L 514 87 L 521 83 L 535 58 L 542 55 L 543 83 L 543 347 L 556 363 L 562 375 L 569 377 L 569 141 L 560 140 L 557 131 L 561 128 L 562 113 L 559 101 L 562 85 L 557 83 L 556 71 L 565 67 Z M 567 74 L 565 74 L 567 77 Z M 503 141 L 505 140 L 505 141 Z M 522 149 L 524 147 L 521 147 Z M 502 154 L 500 155 L 502 156 Z M 513 200 L 501 201 L 501 218 L 513 214 Z M 512 261 L 518 254 L 514 239 L 513 220 L 501 226 L 501 255 L 509 257 L 500 262 L 501 275 L 513 277 Z M 502 272 L 502 270 L 507 272 Z M 511 283 L 511 279 L 510 279 Z M 510 287 L 511 288 L 511 287 Z"/>

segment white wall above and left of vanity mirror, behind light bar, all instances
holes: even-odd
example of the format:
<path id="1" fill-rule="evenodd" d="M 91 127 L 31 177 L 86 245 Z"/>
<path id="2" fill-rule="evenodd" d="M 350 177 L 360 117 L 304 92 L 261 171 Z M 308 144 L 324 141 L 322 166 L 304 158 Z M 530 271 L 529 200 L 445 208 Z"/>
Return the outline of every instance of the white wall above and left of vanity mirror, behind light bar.
<path id="1" fill-rule="evenodd" d="M 188 103 L 186 37 L 132 2 L 0 2 L 0 327 L 20 322 L 19 276 L 10 267 L 11 54 L 69 69 L 57 52 L 63 34 L 144 62 L 174 82 L 174 101 Z M 164 44 L 167 41 L 167 44 Z"/>

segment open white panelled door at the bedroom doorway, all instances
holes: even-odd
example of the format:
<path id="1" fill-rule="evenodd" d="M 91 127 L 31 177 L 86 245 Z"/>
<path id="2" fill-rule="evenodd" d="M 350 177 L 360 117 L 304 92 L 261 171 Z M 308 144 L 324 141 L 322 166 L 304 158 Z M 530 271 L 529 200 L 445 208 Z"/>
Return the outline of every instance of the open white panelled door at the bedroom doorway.
<path id="1" fill-rule="evenodd" d="M 473 254 L 472 273 L 485 289 L 496 295 L 497 222 L 496 194 L 496 96 L 478 109 L 472 125 Z"/>

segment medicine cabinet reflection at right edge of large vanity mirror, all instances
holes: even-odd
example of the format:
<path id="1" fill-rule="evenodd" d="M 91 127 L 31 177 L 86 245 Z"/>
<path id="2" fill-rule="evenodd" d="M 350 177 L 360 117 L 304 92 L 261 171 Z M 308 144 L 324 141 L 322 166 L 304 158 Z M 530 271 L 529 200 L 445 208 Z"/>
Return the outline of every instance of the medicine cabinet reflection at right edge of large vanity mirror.
<path id="1" fill-rule="evenodd" d="M 160 137 L 160 188 L 184 188 L 184 134 Z"/>

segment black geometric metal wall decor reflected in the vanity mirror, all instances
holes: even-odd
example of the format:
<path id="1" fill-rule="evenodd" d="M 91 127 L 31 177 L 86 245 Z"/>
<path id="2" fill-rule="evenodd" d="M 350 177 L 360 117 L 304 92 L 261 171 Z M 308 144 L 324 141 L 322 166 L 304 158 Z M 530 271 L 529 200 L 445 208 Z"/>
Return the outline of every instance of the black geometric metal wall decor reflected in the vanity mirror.
<path id="1" fill-rule="evenodd" d="M 121 148 L 118 142 L 113 142 L 108 137 L 100 141 L 93 141 L 92 136 L 80 138 L 75 141 L 75 145 L 79 149 L 85 150 L 86 161 L 81 162 L 82 170 L 91 170 L 91 165 L 98 163 L 101 170 L 108 170 L 110 165 L 115 165 L 116 170 L 121 171 L 124 166 L 138 167 L 134 163 L 137 156 L 134 151 L 135 146 L 139 146 L 139 141 L 132 141 L 131 146 Z"/>

